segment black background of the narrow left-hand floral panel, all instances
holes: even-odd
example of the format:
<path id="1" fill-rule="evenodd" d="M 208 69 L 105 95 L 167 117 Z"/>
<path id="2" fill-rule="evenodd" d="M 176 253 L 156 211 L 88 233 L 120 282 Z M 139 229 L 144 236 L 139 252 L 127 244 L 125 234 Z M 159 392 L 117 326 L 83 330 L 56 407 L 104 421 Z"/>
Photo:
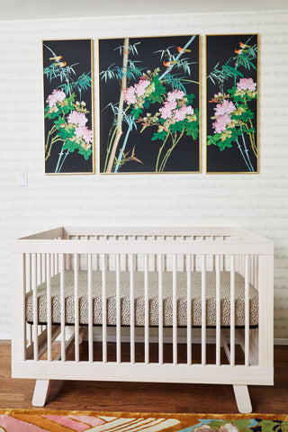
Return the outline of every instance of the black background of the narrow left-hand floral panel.
<path id="1" fill-rule="evenodd" d="M 78 63 L 74 70 L 77 76 L 83 73 L 91 72 L 92 75 L 92 40 L 43 40 L 43 68 L 49 67 L 52 63 L 49 60 L 52 57 L 52 53 L 49 49 L 45 48 L 44 45 L 52 49 L 57 55 L 63 56 L 63 59 L 67 61 L 67 66 L 71 66 Z M 46 100 L 49 94 L 53 92 L 55 88 L 61 89 L 61 81 L 59 78 L 54 78 L 51 81 L 44 76 L 44 108 L 46 106 Z M 75 92 L 76 93 L 76 92 Z M 89 88 L 86 91 L 82 91 L 81 98 L 86 104 L 86 109 L 89 113 L 85 114 L 88 121 L 85 126 L 92 130 L 93 126 L 93 98 L 92 90 Z M 79 99 L 79 95 L 76 93 L 76 101 Z M 79 101 L 81 102 L 81 101 Z M 53 121 L 45 119 L 45 143 L 50 128 L 53 126 Z M 54 174 L 55 166 L 58 161 L 58 153 L 62 147 L 62 143 L 56 142 L 52 149 L 50 157 L 45 161 L 45 173 Z M 88 160 L 82 155 L 79 155 L 77 151 L 70 153 L 62 166 L 60 174 L 68 173 L 93 173 L 94 172 L 94 148 L 92 146 L 93 153 Z"/>

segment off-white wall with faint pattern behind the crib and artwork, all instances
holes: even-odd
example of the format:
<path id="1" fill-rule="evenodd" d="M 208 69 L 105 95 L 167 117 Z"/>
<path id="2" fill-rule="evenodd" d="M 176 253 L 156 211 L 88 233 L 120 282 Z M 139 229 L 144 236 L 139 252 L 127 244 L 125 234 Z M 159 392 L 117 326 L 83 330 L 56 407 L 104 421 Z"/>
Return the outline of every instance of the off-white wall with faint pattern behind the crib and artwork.
<path id="1" fill-rule="evenodd" d="M 288 338 L 287 21 L 270 11 L 0 22 L 0 334 L 11 331 L 10 238 L 65 224 L 205 224 L 275 240 L 275 337 Z M 235 32 L 259 33 L 259 175 L 43 174 L 41 40 L 94 39 L 97 76 L 97 38 Z M 23 169 L 28 187 L 17 186 Z"/>

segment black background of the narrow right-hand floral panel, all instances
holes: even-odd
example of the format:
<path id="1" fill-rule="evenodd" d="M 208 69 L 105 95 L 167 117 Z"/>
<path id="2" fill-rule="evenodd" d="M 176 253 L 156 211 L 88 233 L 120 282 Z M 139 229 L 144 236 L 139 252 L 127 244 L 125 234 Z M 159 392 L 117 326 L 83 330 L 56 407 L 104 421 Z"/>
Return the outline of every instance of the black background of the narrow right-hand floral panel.
<path id="1" fill-rule="evenodd" d="M 211 35 L 206 36 L 206 71 L 207 76 L 211 73 L 211 70 L 217 63 L 219 63 L 219 67 L 224 65 L 227 60 L 235 55 L 235 49 L 239 49 L 239 42 L 245 43 L 247 39 L 252 37 L 248 44 L 255 45 L 257 44 L 257 34 L 229 34 L 229 35 Z M 257 61 L 255 62 L 255 66 L 257 67 Z M 257 83 L 258 89 L 258 80 L 257 80 L 257 70 L 254 68 L 250 68 L 247 70 L 245 67 L 238 67 L 238 71 L 243 74 L 245 78 L 253 78 L 253 81 Z M 238 81 L 238 80 L 237 80 Z M 219 92 L 219 88 L 216 85 L 213 85 L 211 79 L 206 80 L 207 85 L 207 100 L 206 100 L 206 112 L 207 112 L 207 136 L 213 135 L 214 130 L 211 125 L 214 120 L 211 120 L 211 117 L 214 115 L 213 108 L 216 107 L 216 103 L 210 103 L 209 101 Z M 232 88 L 234 85 L 234 78 L 231 78 L 225 81 L 224 84 L 224 92 L 227 89 Z M 258 94 L 257 94 L 258 96 Z M 257 100 L 249 102 L 249 106 L 251 110 L 255 113 L 253 119 L 253 126 L 257 130 Z M 257 137 L 257 132 L 256 132 Z M 257 141 L 257 139 L 256 139 Z M 241 172 L 249 172 L 247 171 L 247 165 L 243 158 L 240 155 L 237 144 L 233 143 L 232 148 L 225 148 L 223 151 L 220 151 L 220 148 L 214 145 L 206 146 L 207 151 L 207 168 L 206 171 L 209 173 L 219 172 L 231 172 L 231 173 L 241 173 Z M 249 157 L 251 159 L 252 165 L 255 167 L 255 172 L 258 171 L 258 161 L 257 157 L 255 157 L 253 152 L 249 153 Z"/>

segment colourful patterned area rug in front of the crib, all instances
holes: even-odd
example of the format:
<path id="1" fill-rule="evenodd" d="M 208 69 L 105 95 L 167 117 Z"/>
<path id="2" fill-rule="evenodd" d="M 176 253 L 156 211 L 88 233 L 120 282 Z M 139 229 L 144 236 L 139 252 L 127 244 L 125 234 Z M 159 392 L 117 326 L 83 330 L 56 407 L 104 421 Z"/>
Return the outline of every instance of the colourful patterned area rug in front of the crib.
<path id="1" fill-rule="evenodd" d="M 0 410 L 0 432 L 288 432 L 288 416 Z"/>

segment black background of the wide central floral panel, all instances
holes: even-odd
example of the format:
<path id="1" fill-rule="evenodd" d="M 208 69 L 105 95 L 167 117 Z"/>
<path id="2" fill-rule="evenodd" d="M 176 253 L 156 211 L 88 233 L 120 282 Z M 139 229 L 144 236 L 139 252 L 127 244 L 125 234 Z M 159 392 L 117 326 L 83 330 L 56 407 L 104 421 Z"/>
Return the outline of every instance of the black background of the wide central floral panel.
<path id="1" fill-rule="evenodd" d="M 168 37 L 153 37 L 153 38 L 130 38 L 130 45 L 135 42 L 141 42 L 137 46 L 139 56 L 132 56 L 130 58 L 133 60 L 139 60 L 139 67 L 144 67 L 143 72 L 148 69 L 154 71 L 156 67 L 160 67 L 159 75 L 162 75 L 166 71 L 166 67 L 163 65 L 163 60 L 160 59 L 160 53 L 153 53 L 158 49 L 166 49 L 171 46 L 184 47 L 185 43 L 190 40 L 189 36 L 168 36 Z M 99 40 L 99 72 L 106 70 L 112 63 L 122 67 L 122 54 L 119 54 L 119 46 L 122 46 L 124 39 L 105 39 Z M 189 46 L 192 49 L 192 53 L 185 53 L 185 57 L 191 55 L 191 61 L 196 62 L 190 68 L 192 70 L 192 76 L 190 79 L 199 82 L 199 36 L 196 36 L 192 44 Z M 175 54 L 177 51 L 175 50 Z M 172 69 L 172 73 L 174 69 Z M 181 74 L 181 70 L 178 71 Z M 107 108 L 108 103 L 119 103 L 121 85 L 117 80 L 105 81 L 100 79 L 100 172 L 103 173 L 103 166 L 106 157 L 107 139 L 109 130 L 112 127 L 113 113 L 110 107 Z M 139 81 L 131 80 L 127 83 L 127 87 L 134 85 Z M 171 87 L 167 86 L 167 91 L 172 90 Z M 187 94 L 195 94 L 193 99 L 193 109 L 199 107 L 199 85 L 197 84 L 187 84 L 185 85 Z M 125 106 L 125 103 L 124 103 Z M 127 105 L 126 105 L 127 106 Z M 106 107 L 106 108 L 105 108 Z M 157 103 L 151 105 L 148 108 L 148 112 L 157 112 L 160 104 Z M 145 111 L 143 112 L 144 115 Z M 131 151 L 135 146 L 135 156 L 143 162 L 139 164 L 134 161 L 130 161 L 119 170 L 120 173 L 148 173 L 155 172 L 157 154 L 160 145 L 163 141 L 157 139 L 156 141 L 151 141 L 152 136 L 157 132 L 157 126 L 150 127 L 139 133 L 141 129 L 138 123 L 138 130 L 133 129 L 130 133 L 129 141 L 125 148 L 126 151 Z M 126 125 L 122 124 L 123 134 L 125 132 Z M 118 153 L 116 153 L 117 157 Z M 199 155 L 199 138 L 193 140 L 192 137 L 184 136 L 176 148 L 173 150 L 171 156 L 169 157 L 165 172 L 189 172 L 189 171 L 199 171 L 200 169 L 200 155 Z"/>

